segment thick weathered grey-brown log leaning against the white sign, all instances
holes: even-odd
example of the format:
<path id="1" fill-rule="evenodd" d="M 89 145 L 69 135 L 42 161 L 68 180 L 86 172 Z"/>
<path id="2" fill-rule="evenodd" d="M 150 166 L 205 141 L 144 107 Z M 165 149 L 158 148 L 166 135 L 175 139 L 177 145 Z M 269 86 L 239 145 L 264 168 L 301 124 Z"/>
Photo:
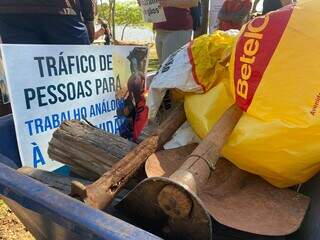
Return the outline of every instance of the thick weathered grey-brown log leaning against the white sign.
<path id="1" fill-rule="evenodd" d="M 137 144 L 79 121 L 66 121 L 49 142 L 49 157 L 80 176 L 97 179 Z"/>

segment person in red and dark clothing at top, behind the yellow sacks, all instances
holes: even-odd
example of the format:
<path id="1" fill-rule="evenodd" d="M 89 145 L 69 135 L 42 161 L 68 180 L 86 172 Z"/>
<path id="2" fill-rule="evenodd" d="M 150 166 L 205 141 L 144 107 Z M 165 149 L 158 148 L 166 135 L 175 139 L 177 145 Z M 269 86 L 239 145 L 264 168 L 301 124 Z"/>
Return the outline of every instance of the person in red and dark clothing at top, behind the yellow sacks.
<path id="1" fill-rule="evenodd" d="M 219 30 L 240 29 L 248 20 L 251 0 L 225 0 L 218 14 Z"/>

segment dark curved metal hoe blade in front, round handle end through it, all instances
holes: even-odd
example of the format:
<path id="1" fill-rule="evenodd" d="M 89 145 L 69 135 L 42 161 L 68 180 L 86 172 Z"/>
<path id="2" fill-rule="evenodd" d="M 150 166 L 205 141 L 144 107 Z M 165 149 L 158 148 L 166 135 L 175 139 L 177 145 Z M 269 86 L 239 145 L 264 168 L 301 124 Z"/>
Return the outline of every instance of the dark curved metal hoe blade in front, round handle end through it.
<path id="1" fill-rule="evenodd" d="M 158 204 L 161 190 L 173 184 L 187 193 L 192 200 L 192 210 L 188 217 L 170 219 L 163 213 Z M 138 184 L 117 207 L 131 216 L 143 218 L 144 221 L 158 222 L 161 226 L 161 237 L 165 239 L 212 239 L 212 223 L 209 213 L 201 200 L 184 186 L 168 178 L 153 177 Z"/>

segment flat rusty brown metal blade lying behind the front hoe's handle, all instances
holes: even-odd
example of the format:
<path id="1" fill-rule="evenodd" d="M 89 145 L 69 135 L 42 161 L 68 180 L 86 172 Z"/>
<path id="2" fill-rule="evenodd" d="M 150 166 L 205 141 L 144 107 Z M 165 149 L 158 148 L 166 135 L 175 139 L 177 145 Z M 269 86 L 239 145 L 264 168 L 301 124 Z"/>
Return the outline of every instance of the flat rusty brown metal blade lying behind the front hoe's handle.
<path id="1" fill-rule="evenodd" d="M 146 162 L 148 177 L 170 176 L 184 158 L 160 151 Z M 178 154 L 179 155 L 179 154 Z M 284 236 L 301 225 L 309 198 L 290 189 L 279 189 L 259 176 L 245 172 L 220 159 L 198 198 L 219 223 L 266 236 Z"/>

